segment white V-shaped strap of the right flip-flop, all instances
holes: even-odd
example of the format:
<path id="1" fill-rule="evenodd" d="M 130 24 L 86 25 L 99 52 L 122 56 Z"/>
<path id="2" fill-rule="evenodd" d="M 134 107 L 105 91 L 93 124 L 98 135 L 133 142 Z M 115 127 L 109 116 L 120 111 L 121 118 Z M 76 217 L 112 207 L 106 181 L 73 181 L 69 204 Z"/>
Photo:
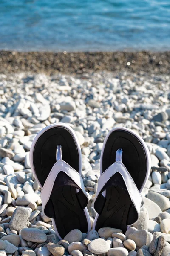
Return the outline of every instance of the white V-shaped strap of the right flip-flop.
<path id="1" fill-rule="evenodd" d="M 119 152 L 120 155 L 117 158 L 121 158 L 122 152 Z M 96 198 L 98 197 L 99 193 L 101 192 L 102 188 L 105 186 L 105 184 L 108 182 L 108 180 L 116 173 L 119 172 L 122 175 L 122 178 L 125 182 L 125 185 L 127 187 L 127 191 L 129 192 L 131 201 L 133 202 L 136 211 L 138 212 L 138 216 L 140 213 L 140 207 L 142 202 L 142 197 L 139 193 L 139 190 L 136 187 L 136 184 L 134 183 L 132 177 L 130 176 L 130 173 L 127 171 L 126 167 L 121 161 L 116 161 L 113 163 L 105 172 L 102 173 L 102 175 L 99 177 L 98 181 L 98 188 L 96 193 Z M 96 200 L 95 198 L 95 200 Z"/>

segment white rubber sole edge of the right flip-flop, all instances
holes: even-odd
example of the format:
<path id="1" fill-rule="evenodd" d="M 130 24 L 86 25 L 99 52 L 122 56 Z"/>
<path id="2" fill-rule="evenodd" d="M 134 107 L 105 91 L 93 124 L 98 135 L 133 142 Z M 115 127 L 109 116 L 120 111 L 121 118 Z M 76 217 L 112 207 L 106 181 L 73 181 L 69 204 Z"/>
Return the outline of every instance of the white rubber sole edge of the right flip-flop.
<path id="1" fill-rule="evenodd" d="M 149 149 L 146 145 L 146 143 L 144 142 L 144 140 L 142 139 L 141 136 L 139 136 L 138 134 L 136 134 L 135 132 L 133 132 L 132 130 L 130 130 L 129 128 L 125 128 L 125 127 L 115 127 L 113 128 L 111 131 L 109 131 L 109 133 L 107 134 L 107 136 L 105 137 L 105 140 L 104 140 L 104 143 L 103 143 L 103 146 L 102 146 L 102 152 L 101 152 L 101 157 L 100 157 L 100 175 L 102 174 L 102 157 L 103 157 L 103 152 L 104 152 L 104 148 L 105 148 L 105 144 L 108 140 L 108 137 L 109 135 L 113 132 L 113 131 L 116 131 L 116 130 L 124 130 L 124 131 L 128 131 L 129 133 L 133 134 L 134 136 L 136 136 L 136 138 L 140 141 L 140 143 L 142 144 L 143 148 L 144 148 L 144 151 L 146 153 L 146 158 L 147 158 L 147 173 L 146 173 L 146 177 L 144 179 L 144 182 L 142 184 L 142 187 L 140 189 L 140 193 L 142 192 L 142 190 L 144 189 L 144 186 L 149 178 L 149 175 L 150 175 L 150 168 L 151 168 L 151 159 L 150 159 L 150 152 L 149 152 Z M 96 214 L 96 217 L 94 219 L 94 224 L 93 224 L 93 230 L 95 230 L 95 227 L 96 227 L 96 222 L 97 222 L 97 219 L 99 217 L 99 214 L 97 213 Z M 127 226 L 127 229 L 131 227 L 131 226 Z"/>

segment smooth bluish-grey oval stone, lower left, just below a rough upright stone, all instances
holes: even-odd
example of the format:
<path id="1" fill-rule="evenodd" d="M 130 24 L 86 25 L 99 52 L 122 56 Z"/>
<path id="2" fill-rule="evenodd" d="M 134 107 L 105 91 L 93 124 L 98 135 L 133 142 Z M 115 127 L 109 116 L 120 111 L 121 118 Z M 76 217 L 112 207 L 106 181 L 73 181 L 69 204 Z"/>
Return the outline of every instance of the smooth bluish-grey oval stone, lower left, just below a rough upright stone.
<path id="1" fill-rule="evenodd" d="M 44 243 L 47 240 L 47 235 L 37 228 L 23 228 L 21 230 L 21 236 L 26 241 L 34 243 Z"/>

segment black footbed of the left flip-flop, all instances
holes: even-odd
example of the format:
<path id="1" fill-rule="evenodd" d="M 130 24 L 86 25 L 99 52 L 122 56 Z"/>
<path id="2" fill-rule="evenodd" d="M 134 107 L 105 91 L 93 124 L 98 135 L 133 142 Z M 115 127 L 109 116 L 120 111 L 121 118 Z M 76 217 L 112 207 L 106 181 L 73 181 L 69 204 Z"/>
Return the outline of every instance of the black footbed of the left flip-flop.
<path id="1" fill-rule="evenodd" d="M 43 186 L 52 166 L 56 163 L 57 145 L 62 146 L 62 160 L 77 172 L 79 152 L 71 132 L 64 127 L 45 131 L 37 140 L 33 152 L 33 164 L 37 178 Z M 54 182 L 51 197 L 45 207 L 45 214 L 54 218 L 59 235 L 64 236 L 73 229 L 88 231 L 84 208 L 87 198 L 77 184 L 64 172 L 59 172 Z"/>

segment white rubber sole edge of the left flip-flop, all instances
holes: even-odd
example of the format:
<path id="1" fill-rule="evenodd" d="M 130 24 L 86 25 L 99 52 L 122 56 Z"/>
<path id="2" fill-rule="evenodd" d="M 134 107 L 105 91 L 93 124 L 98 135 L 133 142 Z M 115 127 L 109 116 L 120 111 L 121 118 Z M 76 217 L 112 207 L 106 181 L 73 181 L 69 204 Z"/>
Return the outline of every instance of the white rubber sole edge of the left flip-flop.
<path id="1" fill-rule="evenodd" d="M 82 152 L 81 152 L 81 147 L 80 147 L 80 144 L 79 144 L 79 140 L 77 138 L 77 135 L 75 133 L 75 131 L 67 124 L 65 123 L 55 123 L 55 124 L 52 124 L 52 125 L 48 125 L 47 127 L 43 128 L 37 135 L 36 137 L 34 138 L 33 142 L 32 142 L 32 145 L 31 145 L 31 149 L 30 149 L 30 153 L 29 153 L 29 160 L 30 160 L 30 166 L 31 166 L 31 170 L 32 170 L 32 173 L 35 177 L 35 179 L 37 180 L 37 183 L 39 184 L 40 188 L 42 189 L 42 185 L 40 184 L 38 178 L 37 178 L 37 175 L 36 175 L 36 172 L 34 170 L 34 164 L 33 164 L 33 152 L 34 152 L 34 146 L 35 144 L 37 143 L 37 140 L 40 138 L 40 136 L 45 133 L 45 131 L 48 131 L 49 129 L 51 128 L 54 128 L 54 127 L 63 127 L 63 128 L 67 128 L 70 133 L 72 134 L 72 136 L 74 137 L 74 141 L 77 145 L 77 149 L 78 149 L 78 153 L 79 153 L 79 174 L 81 175 L 81 172 L 82 172 Z M 78 190 L 79 191 L 79 190 Z M 77 191 L 77 192 L 78 192 Z M 85 207 L 84 209 L 84 212 L 85 212 L 85 216 L 86 216 L 86 219 L 87 219 L 87 222 L 88 222 L 88 232 L 90 232 L 91 230 L 91 222 L 90 222 L 90 216 L 89 216 L 89 213 L 88 213 L 88 209 L 87 207 Z M 56 224 L 55 224 L 55 221 L 54 219 L 52 219 L 52 224 L 54 226 L 54 230 L 58 236 L 59 239 L 62 239 L 62 237 L 59 235 L 58 231 L 57 231 L 57 227 L 56 227 Z"/>

